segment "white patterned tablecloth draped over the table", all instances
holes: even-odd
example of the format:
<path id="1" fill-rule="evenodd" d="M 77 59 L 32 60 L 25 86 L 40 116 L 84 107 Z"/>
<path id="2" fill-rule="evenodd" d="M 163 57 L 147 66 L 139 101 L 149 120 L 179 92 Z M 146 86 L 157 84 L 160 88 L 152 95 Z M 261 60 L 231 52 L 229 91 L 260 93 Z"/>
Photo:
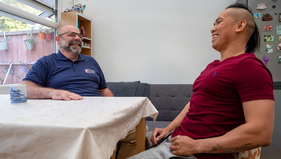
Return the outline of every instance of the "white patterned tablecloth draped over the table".
<path id="1" fill-rule="evenodd" d="M 109 159 L 140 119 L 158 115 L 147 97 L 0 101 L 0 158 Z"/>

